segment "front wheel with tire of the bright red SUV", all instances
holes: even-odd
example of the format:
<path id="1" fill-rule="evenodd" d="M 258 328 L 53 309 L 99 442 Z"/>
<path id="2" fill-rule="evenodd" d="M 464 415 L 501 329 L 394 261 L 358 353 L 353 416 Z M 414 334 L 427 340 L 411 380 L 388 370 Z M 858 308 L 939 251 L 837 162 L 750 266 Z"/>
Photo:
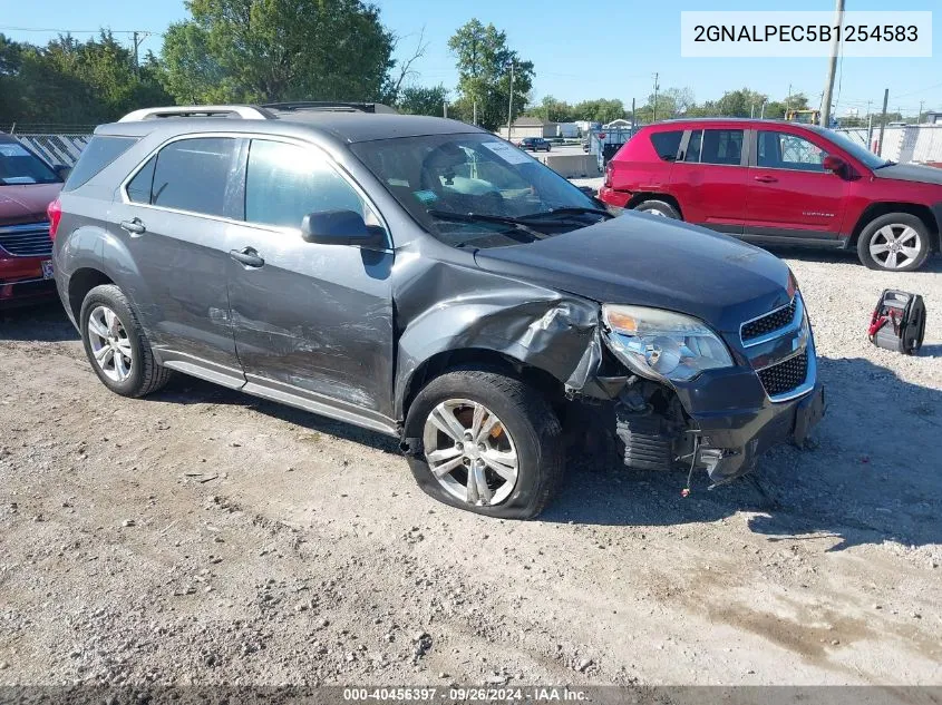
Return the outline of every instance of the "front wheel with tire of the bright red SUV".
<path id="1" fill-rule="evenodd" d="M 893 249 L 894 244 L 900 248 Z M 929 228 L 910 213 L 887 213 L 874 218 L 857 237 L 857 256 L 871 270 L 912 272 L 925 264 L 931 251 Z"/>

